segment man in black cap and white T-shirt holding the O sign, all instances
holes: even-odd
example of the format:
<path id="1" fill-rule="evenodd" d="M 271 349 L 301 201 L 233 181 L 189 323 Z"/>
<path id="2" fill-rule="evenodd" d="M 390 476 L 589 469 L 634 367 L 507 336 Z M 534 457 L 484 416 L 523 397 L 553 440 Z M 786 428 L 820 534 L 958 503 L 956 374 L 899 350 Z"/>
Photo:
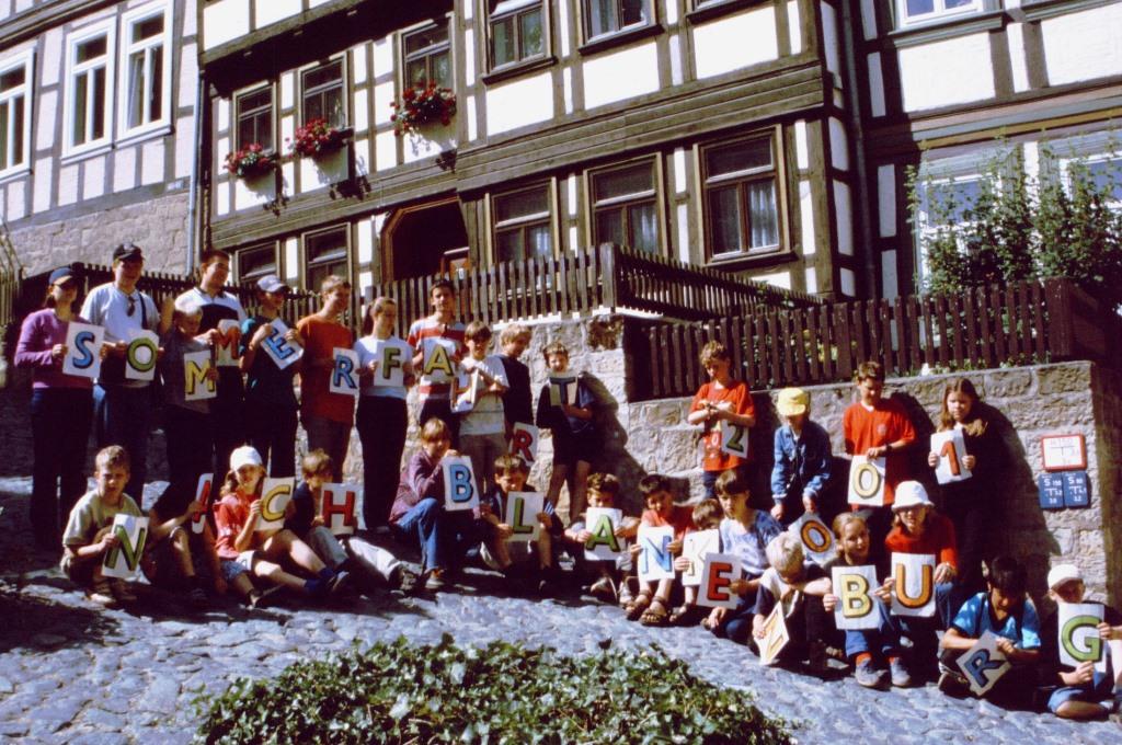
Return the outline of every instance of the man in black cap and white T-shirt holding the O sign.
<path id="1" fill-rule="evenodd" d="M 137 289 L 144 272 L 144 252 L 134 243 L 113 249 L 113 280 L 98 285 L 85 296 L 82 316 L 104 326 L 109 357 L 101 365 L 101 376 L 93 389 L 94 436 L 98 447 L 121 445 L 132 461 L 126 494 L 139 504 L 148 476 L 148 433 L 151 430 L 151 383 L 125 377 L 125 351 L 136 331 L 159 332 L 172 322 L 173 305 L 164 313 L 153 298 Z"/>

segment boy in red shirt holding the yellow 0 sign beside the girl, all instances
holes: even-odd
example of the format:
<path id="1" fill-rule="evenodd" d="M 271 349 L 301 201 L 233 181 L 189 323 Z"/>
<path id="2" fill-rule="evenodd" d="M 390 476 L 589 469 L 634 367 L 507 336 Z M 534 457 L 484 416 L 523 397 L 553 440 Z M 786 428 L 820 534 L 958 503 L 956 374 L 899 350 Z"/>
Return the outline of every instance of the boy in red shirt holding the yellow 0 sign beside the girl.
<path id="1" fill-rule="evenodd" d="M 845 410 L 842 420 L 845 451 L 870 460 L 884 458 L 884 506 L 872 507 L 866 521 L 873 545 L 880 546 L 892 522 L 895 487 L 911 477 L 905 451 L 916 442 L 916 429 L 898 401 L 882 397 L 884 368 L 880 364 L 857 367 L 857 393 L 861 401 Z"/>

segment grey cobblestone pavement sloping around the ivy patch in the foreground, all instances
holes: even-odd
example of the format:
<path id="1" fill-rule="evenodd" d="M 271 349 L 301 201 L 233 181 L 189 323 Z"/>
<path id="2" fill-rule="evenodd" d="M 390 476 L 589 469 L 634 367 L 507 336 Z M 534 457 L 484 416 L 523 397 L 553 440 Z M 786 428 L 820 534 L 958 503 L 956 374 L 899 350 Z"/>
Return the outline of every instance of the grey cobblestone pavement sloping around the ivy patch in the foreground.
<path id="1" fill-rule="evenodd" d="M 699 628 L 644 628 L 616 608 L 576 597 L 508 597 L 481 574 L 470 577 L 479 586 L 472 590 L 320 607 L 282 604 L 254 615 L 232 603 L 191 614 L 176 598 L 155 591 L 144 594 L 131 613 L 104 610 L 70 586 L 53 557 L 26 540 L 20 528 L 29 489 L 26 477 L 0 478 L 0 738 L 187 742 L 200 723 L 194 699 L 223 690 L 236 677 L 268 677 L 355 642 L 366 646 L 405 636 L 435 643 L 445 632 L 462 644 L 518 640 L 574 655 L 597 653 L 605 638 L 628 650 L 659 644 L 702 678 L 752 691 L 767 712 L 800 720 L 795 736 L 804 743 L 1070 745 L 1120 738 L 1116 724 L 1073 724 L 951 700 L 934 686 L 879 692 L 852 678 L 822 681 L 764 669 L 744 647 Z"/>

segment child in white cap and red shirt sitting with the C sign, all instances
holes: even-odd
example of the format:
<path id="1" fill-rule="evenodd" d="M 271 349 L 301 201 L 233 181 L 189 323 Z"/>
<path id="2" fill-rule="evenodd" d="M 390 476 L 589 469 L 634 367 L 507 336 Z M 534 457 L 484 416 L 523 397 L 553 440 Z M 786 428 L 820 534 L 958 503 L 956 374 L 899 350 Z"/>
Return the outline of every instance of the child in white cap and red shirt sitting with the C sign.
<path id="1" fill-rule="evenodd" d="M 259 491 L 264 476 L 261 457 L 256 450 L 242 445 L 230 453 L 230 472 L 222 485 L 222 499 L 214 505 L 222 578 L 249 601 L 251 608 L 264 598 L 251 576 L 313 596 L 338 590 L 346 578 L 324 567 L 315 552 L 292 531 L 257 530 L 261 519 Z M 285 571 L 279 564 L 284 558 L 313 577 L 304 579 Z"/>

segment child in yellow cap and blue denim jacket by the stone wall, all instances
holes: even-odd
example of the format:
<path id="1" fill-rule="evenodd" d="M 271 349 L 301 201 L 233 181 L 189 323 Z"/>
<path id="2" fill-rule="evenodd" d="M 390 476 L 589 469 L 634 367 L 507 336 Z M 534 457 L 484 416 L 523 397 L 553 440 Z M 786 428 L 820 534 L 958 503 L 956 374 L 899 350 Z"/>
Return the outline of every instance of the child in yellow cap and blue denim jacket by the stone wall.
<path id="1" fill-rule="evenodd" d="M 790 525 L 803 512 L 821 513 L 834 458 L 830 435 L 810 421 L 810 396 L 806 390 L 783 388 L 775 408 L 784 424 L 775 430 L 772 516 Z"/>

